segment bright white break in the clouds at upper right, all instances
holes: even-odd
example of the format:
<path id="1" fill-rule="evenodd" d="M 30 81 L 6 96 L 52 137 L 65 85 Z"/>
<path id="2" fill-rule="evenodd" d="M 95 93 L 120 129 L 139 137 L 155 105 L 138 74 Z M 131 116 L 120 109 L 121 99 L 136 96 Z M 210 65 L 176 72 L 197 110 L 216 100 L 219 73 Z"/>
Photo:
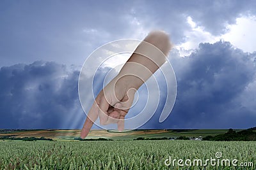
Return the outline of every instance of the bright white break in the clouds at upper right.
<path id="1" fill-rule="evenodd" d="M 229 41 L 244 52 L 256 51 L 255 16 L 237 18 L 236 24 L 227 25 L 228 32 L 220 36 L 213 36 L 211 32 L 205 31 L 204 27 L 198 26 L 190 16 L 187 17 L 187 22 L 191 29 L 184 33 L 186 42 L 176 46 L 181 57 L 190 55 L 198 47 L 199 43 L 214 43 L 220 41 L 220 39 Z"/>

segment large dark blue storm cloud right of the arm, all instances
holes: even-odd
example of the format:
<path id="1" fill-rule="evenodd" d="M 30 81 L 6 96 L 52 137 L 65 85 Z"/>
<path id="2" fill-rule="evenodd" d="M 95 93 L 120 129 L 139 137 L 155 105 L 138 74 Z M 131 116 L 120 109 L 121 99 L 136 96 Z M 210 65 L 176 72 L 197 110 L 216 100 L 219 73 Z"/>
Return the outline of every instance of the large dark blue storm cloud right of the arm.
<path id="1" fill-rule="evenodd" d="M 228 42 L 219 41 L 201 43 L 189 57 L 175 57 L 173 53 L 171 60 L 178 85 L 175 106 L 165 122 L 158 123 L 157 113 L 145 128 L 256 125 L 256 108 L 252 104 L 256 96 L 255 53 L 244 53 Z"/>

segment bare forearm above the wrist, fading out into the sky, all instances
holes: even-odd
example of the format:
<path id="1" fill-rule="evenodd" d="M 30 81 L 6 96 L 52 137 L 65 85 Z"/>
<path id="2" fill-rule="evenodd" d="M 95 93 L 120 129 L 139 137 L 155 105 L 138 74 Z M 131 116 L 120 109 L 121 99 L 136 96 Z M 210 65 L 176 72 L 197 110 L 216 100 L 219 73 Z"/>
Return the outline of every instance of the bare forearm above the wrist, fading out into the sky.
<path id="1" fill-rule="evenodd" d="M 116 78 L 127 81 L 130 88 L 138 89 L 164 64 L 171 48 L 167 34 L 151 32 L 138 45 Z"/>

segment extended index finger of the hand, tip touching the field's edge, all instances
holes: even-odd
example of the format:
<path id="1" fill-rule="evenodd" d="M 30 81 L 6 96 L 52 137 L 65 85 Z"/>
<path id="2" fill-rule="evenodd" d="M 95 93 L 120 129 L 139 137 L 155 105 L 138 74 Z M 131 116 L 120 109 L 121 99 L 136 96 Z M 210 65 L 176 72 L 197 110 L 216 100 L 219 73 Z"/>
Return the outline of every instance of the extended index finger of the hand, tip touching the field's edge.
<path id="1" fill-rule="evenodd" d="M 92 104 L 92 108 L 90 109 L 86 120 L 84 122 L 83 129 L 81 131 L 81 138 L 85 138 L 88 133 L 90 132 L 90 129 L 92 128 L 93 123 L 97 120 L 98 118 L 98 111 L 99 111 L 99 106 L 96 101 Z"/>

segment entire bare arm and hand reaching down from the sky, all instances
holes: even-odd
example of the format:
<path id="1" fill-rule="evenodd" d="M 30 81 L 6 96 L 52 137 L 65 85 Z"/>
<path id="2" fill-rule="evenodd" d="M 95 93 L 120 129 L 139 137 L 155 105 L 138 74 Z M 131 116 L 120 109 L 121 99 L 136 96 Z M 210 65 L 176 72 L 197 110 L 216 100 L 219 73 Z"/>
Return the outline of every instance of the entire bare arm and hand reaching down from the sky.
<path id="1" fill-rule="evenodd" d="M 171 48 L 166 33 L 150 32 L 132 53 L 120 73 L 96 97 L 84 122 L 81 138 L 88 135 L 98 117 L 100 124 L 117 124 L 118 131 L 123 131 L 124 118 L 132 106 L 136 90 L 164 64 Z"/>

